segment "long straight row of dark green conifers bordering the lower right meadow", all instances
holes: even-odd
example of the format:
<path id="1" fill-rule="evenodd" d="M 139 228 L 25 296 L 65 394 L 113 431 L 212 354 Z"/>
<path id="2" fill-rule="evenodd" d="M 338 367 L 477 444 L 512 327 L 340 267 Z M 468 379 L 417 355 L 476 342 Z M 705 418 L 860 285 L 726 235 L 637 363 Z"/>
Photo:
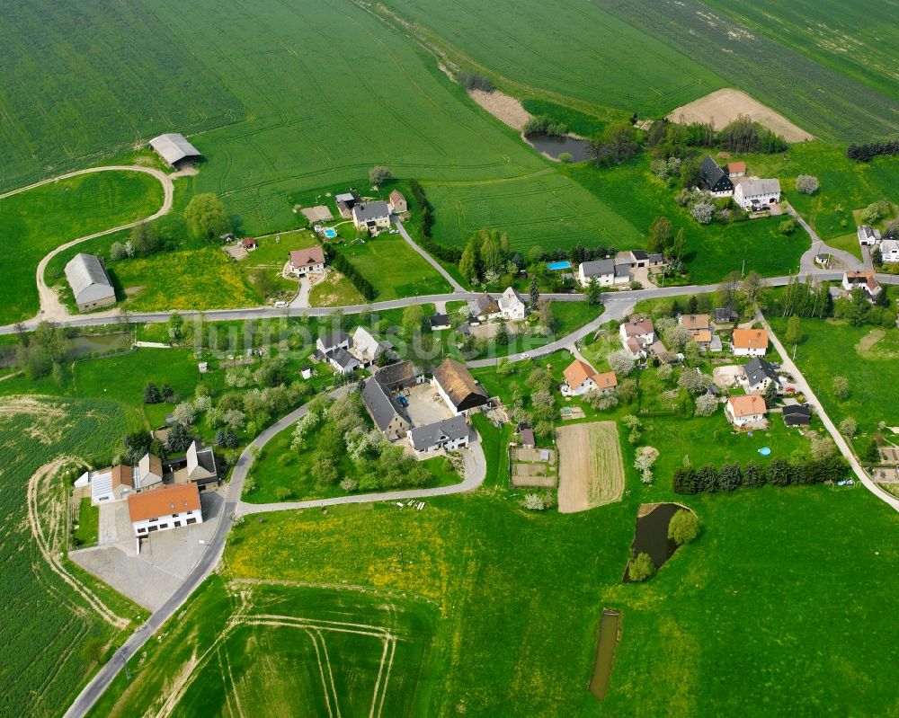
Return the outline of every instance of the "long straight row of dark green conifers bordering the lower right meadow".
<path id="1" fill-rule="evenodd" d="M 732 492 L 741 486 L 755 487 L 770 483 L 772 486 L 797 486 L 812 483 L 840 481 L 849 469 L 843 457 L 828 457 L 790 463 L 786 459 L 773 459 L 767 466 L 749 462 L 713 465 L 681 466 L 672 476 L 672 487 L 677 493 Z"/>

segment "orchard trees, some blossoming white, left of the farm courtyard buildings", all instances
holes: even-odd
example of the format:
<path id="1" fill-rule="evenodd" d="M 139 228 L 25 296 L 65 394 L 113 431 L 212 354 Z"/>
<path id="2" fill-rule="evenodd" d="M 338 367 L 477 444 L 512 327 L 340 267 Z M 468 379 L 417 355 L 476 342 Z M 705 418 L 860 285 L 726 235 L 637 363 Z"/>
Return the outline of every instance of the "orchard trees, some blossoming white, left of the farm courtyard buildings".
<path id="1" fill-rule="evenodd" d="M 333 401 L 316 396 L 297 422 L 291 448 L 302 453 L 319 487 L 374 492 L 432 482 L 424 465 L 369 427 L 355 392 Z"/>

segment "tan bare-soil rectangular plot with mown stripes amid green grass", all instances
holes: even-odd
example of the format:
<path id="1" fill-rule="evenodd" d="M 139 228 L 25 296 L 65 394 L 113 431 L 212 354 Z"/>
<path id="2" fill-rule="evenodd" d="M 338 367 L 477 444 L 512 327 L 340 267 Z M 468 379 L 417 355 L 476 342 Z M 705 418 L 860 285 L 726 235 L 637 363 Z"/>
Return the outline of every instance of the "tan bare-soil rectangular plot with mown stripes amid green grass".
<path id="1" fill-rule="evenodd" d="M 624 492 L 618 426 L 614 421 L 556 430 L 559 511 L 574 513 L 619 501 Z"/>

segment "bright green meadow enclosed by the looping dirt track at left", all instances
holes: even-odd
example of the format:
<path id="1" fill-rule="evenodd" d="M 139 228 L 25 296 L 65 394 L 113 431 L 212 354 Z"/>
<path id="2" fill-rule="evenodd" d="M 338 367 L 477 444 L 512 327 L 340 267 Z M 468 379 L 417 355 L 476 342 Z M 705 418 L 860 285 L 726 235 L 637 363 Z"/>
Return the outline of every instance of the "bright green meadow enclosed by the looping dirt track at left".
<path id="1" fill-rule="evenodd" d="M 162 203 L 155 177 L 118 172 L 85 174 L 0 199 L 5 250 L 15 258 L 0 266 L 0 324 L 38 313 L 34 274 L 45 254 L 78 237 L 149 217 Z"/>

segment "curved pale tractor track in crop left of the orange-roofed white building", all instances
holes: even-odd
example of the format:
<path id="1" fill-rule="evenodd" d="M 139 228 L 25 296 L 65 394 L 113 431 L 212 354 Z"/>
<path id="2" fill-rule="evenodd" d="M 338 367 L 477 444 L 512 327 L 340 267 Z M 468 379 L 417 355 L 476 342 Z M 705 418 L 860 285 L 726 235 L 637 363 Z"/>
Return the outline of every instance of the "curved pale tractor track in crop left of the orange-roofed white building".
<path id="1" fill-rule="evenodd" d="M 41 466 L 31 476 L 31 480 L 28 482 L 28 525 L 31 528 L 31 536 L 34 537 L 38 550 L 50 571 L 56 573 L 81 598 L 84 598 L 85 603 L 106 623 L 122 630 L 128 627 L 129 620 L 117 616 L 111 611 L 91 589 L 67 571 L 60 558 L 63 553 L 62 543 L 66 531 L 67 508 L 65 502 L 53 499 L 52 494 L 55 491 L 53 483 L 59 468 L 74 460 L 74 457 L 58 457 L 49 464 Z M 40 567 L 35 566 L 34 570 L 40 571 Z M 79 606 L 61 592 L 59 595 L 67 601 L 76 614 L 80 615 L 85 612 L 85 607 Z"/>

